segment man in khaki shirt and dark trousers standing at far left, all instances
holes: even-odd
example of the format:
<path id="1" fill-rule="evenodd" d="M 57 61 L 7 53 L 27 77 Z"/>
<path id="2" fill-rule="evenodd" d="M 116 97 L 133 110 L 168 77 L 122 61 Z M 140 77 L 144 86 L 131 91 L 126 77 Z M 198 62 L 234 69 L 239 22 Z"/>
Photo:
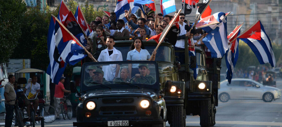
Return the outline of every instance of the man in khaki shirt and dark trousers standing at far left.
<path id="1" fill-rule="evenodd" d="M 5 108 L 6 108 L 6 117 L 5 117 L 5 127 L 12 126 L 14 105 L 16 100 L 16 92 L 14 90 L 14 82 L 16 78 L 14 75 L 8 76 L 9 82 L 5 85 L 4 97 L 5 97 Z"/>

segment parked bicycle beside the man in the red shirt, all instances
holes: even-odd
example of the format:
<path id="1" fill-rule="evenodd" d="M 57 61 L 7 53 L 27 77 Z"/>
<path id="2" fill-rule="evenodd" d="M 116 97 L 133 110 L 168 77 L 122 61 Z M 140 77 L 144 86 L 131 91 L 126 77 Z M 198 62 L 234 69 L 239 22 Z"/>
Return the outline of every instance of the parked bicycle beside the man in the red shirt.
<path id="1" fill-rule="evenodd" d="M 68 97 L 68 96 L 67 96 Z M 61 113 L 63 115 L 63 119 L 66 120 L 71 119 L 72 118 L 72 107 L 71 106 L 67 106 L 67 99 L 66 96 L 64 96 L 63 98 L 60 99 L 60 105 L 61 105 Z M 67 117 L 67 118 L 66 118 Z"/>

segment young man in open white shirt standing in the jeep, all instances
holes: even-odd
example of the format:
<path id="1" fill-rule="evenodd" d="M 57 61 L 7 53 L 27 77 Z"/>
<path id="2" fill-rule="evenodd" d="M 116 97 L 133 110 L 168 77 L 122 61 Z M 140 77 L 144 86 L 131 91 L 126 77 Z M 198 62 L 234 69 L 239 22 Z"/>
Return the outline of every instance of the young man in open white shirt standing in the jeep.
<path id="1" fill-rule="evenodd" d="M 108 36 L 106 40 L 106 45 L 108 48 L 101 51 L 98 58 L 99 62 L 122 61 L 122 53 L 114 48 L 114 44 L 114 37 Z M 118 64 L 103 66 L 102 70 L 104 72 L 104 78 L 106 81 L 113 81 L 114 78 L 120 77 L 118 73 L 120 71 L 120 66 Z"/>

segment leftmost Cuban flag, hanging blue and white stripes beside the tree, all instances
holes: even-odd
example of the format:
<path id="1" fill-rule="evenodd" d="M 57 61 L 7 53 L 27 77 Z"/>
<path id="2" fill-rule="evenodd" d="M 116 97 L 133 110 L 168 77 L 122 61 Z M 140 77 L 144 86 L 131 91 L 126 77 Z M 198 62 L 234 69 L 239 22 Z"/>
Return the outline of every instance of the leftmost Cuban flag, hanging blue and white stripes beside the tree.
<path id="1" fill-rule="evenodd" d="M 52 83 L 58 84 L 61 76 L 63 75 L 67 63 L 65 63 L 59 54 L 58 48 L 55 43 L 55 18 L 51 16 L 51 21 L 49 25 L 48 35 L 47 35 L 47 47 L 48 54 L 50 58 L 50 63 L 48 65 L 46 73 L 50 75 Z"/>

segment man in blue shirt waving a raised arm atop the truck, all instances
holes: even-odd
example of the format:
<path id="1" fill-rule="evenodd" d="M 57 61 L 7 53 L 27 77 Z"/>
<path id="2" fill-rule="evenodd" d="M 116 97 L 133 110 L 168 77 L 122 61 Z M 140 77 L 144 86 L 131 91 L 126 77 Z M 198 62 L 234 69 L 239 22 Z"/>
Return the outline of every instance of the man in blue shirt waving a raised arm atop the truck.
<path id="1" fill-rule="evenodd" d="M 133 29 L 145 28 L 146 29 L 146 36 L 150 35 L 149 27 L 147 25 L 145 25 L 145 23 L 147 22 L 147 20 L 145 18 L 139 18 L 137 20 L 137 24 L 134 24 L 133 21 L 129 19 L 127 10 L 124 11 L 124 16 L 125 16 L 126 20 L 128 21 L 128 24 Z M 139 34 L 139 31 L 136 34 Z"/>

